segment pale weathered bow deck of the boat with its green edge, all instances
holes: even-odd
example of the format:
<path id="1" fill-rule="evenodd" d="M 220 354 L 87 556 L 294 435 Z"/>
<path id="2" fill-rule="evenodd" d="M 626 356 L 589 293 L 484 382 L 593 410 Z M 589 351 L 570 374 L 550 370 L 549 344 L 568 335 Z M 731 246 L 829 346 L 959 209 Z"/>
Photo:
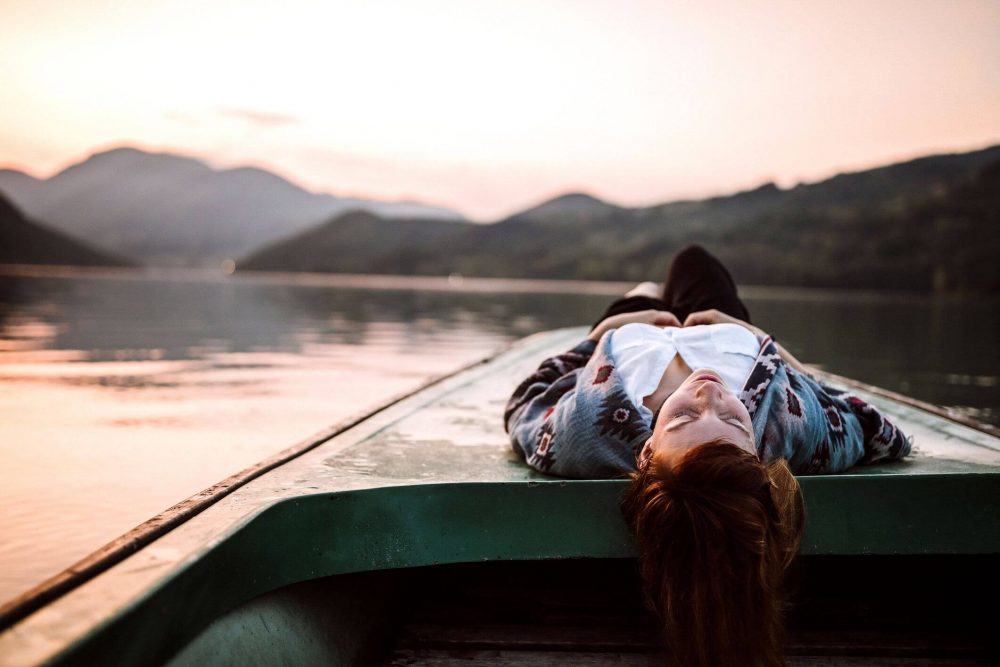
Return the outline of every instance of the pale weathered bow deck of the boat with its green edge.
<path id="1" fill-rule="evenodd" d="M 116 664 L 162 662 L 227 610 L 331 575 L 631 557 L 617 503 L 623 482 L 538 474 L 511 451 L 501 423 L 513 387 L 583 335 L 526 339 L 324 434 L 249 483 L 207 490 L 193 518 L 194 510 L 154 519 L 154 529 L 179 525 L 149 544 L 127 541 L 120 562 L 5 629 L 3 663 L 109 655 Z M 1000 438 L 891 398 L 865 398 L 914 437 L 914 455 L 801 478 L 801 553 L 1000 553 Z M 164 617 L 173 619 L 166 629 L 155 620 Z"/>

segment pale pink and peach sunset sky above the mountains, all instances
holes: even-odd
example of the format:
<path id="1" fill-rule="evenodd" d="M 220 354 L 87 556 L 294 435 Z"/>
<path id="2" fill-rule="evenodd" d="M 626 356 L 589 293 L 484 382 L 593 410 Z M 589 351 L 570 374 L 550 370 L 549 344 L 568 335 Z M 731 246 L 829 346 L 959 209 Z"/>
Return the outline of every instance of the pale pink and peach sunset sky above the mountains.
<path id="1" fill-rule="evenodd" d="M 119 145 L 480 220 L 1000 143 L 1000 2 L 0 0 L 0 166 Z"/>

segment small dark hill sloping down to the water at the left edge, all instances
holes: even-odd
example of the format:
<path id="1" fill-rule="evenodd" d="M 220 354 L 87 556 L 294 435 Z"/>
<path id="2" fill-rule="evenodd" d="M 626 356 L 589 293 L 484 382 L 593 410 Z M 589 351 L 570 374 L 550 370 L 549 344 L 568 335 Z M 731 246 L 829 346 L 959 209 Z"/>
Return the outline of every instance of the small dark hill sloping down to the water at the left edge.
<path id="1" fill-rule="evenodd" d="M 32 222 L 0 194 L 0 264 L 128 266 L 64 234 Z"/>

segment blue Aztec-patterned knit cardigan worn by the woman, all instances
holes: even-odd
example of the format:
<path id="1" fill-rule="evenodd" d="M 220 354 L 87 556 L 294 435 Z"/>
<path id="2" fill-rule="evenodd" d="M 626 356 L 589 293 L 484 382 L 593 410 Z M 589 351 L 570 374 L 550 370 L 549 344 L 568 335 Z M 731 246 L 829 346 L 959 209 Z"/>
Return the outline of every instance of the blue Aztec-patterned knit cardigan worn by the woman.
<path id="1" fill-rule="evenodd" d="M 529 465 L 561 477 L 627 476 L 652 435 L 626 397 L 611 356 L 614 331 L 546 359 L 514 391 L 504 425 Z M 770 337 L 740 393 L 762 461 L 784 458 L 796 475 L 836 473 L 897 459 L 910 441 L 867 402 L 786 364 Z"/>

